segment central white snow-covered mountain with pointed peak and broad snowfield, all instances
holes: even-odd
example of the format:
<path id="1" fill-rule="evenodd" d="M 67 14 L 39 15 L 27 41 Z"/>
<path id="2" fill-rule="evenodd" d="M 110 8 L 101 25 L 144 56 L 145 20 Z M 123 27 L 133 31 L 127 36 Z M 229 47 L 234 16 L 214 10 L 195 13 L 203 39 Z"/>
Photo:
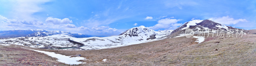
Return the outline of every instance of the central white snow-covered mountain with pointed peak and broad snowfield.
<path id="1" fill-rule="evenodd" d="M 104 49 L 164 39 L 170 34 L 171 31 L 172 30 L 162 32 L 154 31 L 152 29 L 148 29 L 147 27 L 140 26 L 128 29 L 118 36 L 70 39 L 83 43 L 85 46 L 80 47 L 83 49 Z"/>

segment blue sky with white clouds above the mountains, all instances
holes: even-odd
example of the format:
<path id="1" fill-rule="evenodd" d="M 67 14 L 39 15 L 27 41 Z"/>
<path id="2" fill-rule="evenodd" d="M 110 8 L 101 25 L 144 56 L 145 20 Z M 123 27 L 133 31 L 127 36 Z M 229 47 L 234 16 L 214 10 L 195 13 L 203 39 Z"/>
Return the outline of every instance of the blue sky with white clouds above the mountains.
<path id="1" fill-rule="evenodd" d="M 175 29 L 210 19 L 256 29 L 255 0 L 0 0 L 0 30 L 46 29 L 118 35 L 141 25 Z"/>

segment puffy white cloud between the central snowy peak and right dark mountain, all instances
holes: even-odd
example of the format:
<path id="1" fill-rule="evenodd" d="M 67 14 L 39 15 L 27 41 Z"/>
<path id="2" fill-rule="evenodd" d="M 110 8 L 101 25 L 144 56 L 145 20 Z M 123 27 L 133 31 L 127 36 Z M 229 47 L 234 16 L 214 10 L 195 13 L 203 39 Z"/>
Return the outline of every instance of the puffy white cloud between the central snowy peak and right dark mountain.
<path id="1" fill-rule="evenodd" d="M 157 21 L 157 24 L 149 27 L 150 29 L 156 30 L 156 29 L 170 29 L 173 27 L 177 27 L 182 25 L 182 23 L 177 23 L 178 21 L 181 21 L 180 19 L 170 19 L 170 18 L 165 18 Z"/>

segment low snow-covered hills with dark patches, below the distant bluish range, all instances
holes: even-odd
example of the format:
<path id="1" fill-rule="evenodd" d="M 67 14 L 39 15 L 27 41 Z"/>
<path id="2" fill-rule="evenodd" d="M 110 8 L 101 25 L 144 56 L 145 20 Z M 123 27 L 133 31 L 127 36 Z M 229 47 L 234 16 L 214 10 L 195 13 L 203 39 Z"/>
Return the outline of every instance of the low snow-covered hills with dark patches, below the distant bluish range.
<path id="1" fill-rule="evenodd" d="M 74 38 L 66 34 L 57 34 L 45 37 L 17 37 L 0 39 L 1 43 L 9 43 L 14 45 L 23 45 L 33 48 L 43 47 L 74 47 L 77 44 L 68 41 L 68 38 Z"/>

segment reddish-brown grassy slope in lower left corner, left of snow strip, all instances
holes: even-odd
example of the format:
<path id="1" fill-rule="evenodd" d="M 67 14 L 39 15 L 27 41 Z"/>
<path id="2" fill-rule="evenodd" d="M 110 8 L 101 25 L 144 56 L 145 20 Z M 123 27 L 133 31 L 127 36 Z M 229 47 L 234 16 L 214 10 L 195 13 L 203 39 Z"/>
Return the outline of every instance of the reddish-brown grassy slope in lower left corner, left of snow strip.
<path id="1" fill-rule="evenodd" d="M 57 58 L 52 58 L 44 53 L 23 49 L 19 45 L 0 45 L 0 66 L 53 66 L 67 65 L 57 62 Z"/>

